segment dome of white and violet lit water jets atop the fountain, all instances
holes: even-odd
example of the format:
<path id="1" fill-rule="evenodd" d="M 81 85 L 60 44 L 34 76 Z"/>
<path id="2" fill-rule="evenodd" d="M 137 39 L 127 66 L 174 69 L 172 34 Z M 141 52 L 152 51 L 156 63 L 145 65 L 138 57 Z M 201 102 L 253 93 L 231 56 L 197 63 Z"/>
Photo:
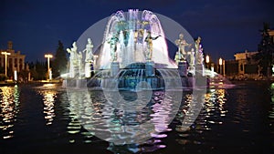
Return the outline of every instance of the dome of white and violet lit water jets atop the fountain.
<path id="1" fill-rule="evenodd" d="M 163 28 L 150 11 L 130 9 L 127 14 L 118 11 L 111 15 L 105 29 L 99 69 L 111 68 L 110 62 L 119 62 L 120 68 L 136 62 L 153 61 L 175 68 L 169 59 Z"/>

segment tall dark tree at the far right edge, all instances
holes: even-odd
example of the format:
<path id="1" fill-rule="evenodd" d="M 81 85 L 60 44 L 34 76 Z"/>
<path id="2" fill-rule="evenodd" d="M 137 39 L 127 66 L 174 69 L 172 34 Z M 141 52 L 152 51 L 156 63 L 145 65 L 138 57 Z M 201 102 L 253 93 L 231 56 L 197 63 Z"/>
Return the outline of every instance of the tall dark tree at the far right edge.
<path id="1" fill-rule="evenodd" d="M 258 54 L 255 58 L 258 60 L 258 66 L 261 67 L 262 75 L 269 77 L 274 56 L 273 36 L 269 36 L 269 24 L 264 23 L 263 29 L 260 30 L 261 41 L 258 44 Z"/>

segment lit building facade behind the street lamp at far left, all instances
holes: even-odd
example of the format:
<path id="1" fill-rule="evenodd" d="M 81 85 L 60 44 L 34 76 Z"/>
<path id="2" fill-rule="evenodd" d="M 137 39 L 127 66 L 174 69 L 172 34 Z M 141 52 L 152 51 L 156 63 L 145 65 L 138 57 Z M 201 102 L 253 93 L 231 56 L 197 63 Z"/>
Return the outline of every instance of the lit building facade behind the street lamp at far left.
<path id="1" fill-rule="evenodd" d="M 13 49 L 13 43 L 9 41 L 7 43 L 6 49 L 0 49 L 0 67 L 5 68 L 5 55 L 3 53 L 9 53 L 6 56 L 6 67 L 7 72 L 20 72 L 25 69 L 25 57 L 26 55 L 21 55 L 20 51 Z"/>

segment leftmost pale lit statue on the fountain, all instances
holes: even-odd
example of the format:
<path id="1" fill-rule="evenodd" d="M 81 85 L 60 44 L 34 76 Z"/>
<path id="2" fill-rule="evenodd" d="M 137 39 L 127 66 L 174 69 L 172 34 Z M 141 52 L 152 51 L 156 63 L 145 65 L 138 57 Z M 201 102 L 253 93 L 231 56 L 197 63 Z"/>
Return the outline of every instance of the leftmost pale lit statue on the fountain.
<path id="1" fill-rule="evenodd" d="M 69 77 L 75 77 L 74 67 L 78 66 L 78 53 L 76 42 L 73 42 L 71 48 L 67 48 L 69 54 Z"/>

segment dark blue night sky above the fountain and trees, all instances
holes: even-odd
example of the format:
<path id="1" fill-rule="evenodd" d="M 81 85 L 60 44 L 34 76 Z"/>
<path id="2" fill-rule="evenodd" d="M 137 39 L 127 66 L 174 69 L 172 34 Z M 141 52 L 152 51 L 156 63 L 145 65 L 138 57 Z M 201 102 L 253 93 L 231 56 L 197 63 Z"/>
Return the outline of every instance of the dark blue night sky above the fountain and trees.
<path id="1" fill-rule="evenodd" d="M 274 27 L 273 7 L 270 0 L 1 0 L 0 48 L 11 40 L 26 61 L 45 60 L 58 40 L 70 47 L 100 19 L 138 8 L 168 16 L 191 36 L 201 36 L 214 60 L 232 59 L 237 52 L 257 50 L 263 22 Z"/>

